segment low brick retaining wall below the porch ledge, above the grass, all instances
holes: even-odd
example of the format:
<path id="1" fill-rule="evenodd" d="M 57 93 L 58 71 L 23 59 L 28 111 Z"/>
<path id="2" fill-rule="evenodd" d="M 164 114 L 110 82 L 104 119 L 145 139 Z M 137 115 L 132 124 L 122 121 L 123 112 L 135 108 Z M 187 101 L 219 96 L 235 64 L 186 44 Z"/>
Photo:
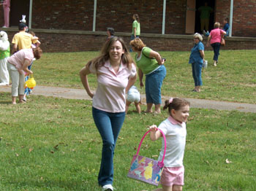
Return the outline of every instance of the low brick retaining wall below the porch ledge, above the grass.
<path id="1" fill-rule="evenodd" d="M 7 29 L 8 30 L 8 29 Z M 9 29 L 10 30 L 10 29 Z M 105 32 L 88 31 L 55 31 L 34 29 L 42 43 L 43 52 L 81 52 L 99 51 L 107 39 Z M 7 31 L 10 42 L 16 31 Z M 117 33 L 129 47 L 129 33 Z M 190 51 L 194 45 L 192 35 L 161 35 L 145 34 L 140 36 L 143 42 L 157 51 Z M 207 39 L 204 37 L 203 44 L 206 47 Z M 255 38 L 231 37 L 226 39 L 226 46 L 222 50 L 256 50 Z M 206 47 L 206 50 L 212 50 Z"/>

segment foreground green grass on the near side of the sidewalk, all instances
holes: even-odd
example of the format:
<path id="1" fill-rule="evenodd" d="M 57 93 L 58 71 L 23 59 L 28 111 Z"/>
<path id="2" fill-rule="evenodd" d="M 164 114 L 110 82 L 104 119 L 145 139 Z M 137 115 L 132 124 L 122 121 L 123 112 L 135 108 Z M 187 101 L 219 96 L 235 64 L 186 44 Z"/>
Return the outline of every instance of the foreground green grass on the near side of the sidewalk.
<path id="1" fill-rule="evenodd" d="M 91 101 L 30 95 L 27 104 L 12 105 L 10 93 L 1 93 L 0 104 L 0 190 L 100 190 L 102 140 Z M 127 178 L 127 172 L 148 125 L 159 125 L 167 113 L 134 111 L 131 106 L 117 142 L 113 186 L 152 190 Z M 255 123 L 252 113 L 191 109 L 184 190 L 256 190 Z M 140 155 L 159 155 L 160 147 L 160 140 L 147 137 Z"/>

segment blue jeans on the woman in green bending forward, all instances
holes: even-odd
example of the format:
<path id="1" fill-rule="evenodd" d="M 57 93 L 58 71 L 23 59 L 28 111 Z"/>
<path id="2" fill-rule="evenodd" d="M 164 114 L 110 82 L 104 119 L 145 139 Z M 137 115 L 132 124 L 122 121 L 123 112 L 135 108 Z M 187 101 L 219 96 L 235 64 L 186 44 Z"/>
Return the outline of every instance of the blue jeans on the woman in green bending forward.
<path id="1" fill-rule="evenodd" d="M 166 75 L 165 66 L 160 66 L 159 69 L 146 75 L 145 91 L 147 104 L 161 104 L 161 87 Z"/>

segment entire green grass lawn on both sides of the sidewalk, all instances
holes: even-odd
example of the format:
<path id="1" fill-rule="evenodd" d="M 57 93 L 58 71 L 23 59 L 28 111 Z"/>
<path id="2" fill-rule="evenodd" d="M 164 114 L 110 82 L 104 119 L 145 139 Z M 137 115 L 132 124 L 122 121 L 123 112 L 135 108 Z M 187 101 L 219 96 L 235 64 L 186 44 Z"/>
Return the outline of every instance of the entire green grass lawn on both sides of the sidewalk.
<path id="1" fill-rule="evenodd" d="M 255 53 L 221 50 L 214 67 L 213 52 L 206 51 L 203 91 L 192 93 L 189 52 L 161 52 L 167 59 L 162 94 L 256 104 Z M 78 73 L 97 55 L 45 53 L 32 66 L 37 85 L 83 88 Z M 96 88 L 94 75 L 89 82 Z M 10 103 L 10 93 L 0 93 L 0 190 L 100 190 L 97 174 L 102 140 L 91 117 L 91 101 L 30 95 L 27 104 Z M 127 172 L 148 125 L 159 125 L 167 113 L 134 111 L 130 106 L 117 142 L 113 186 L 122 191 L 149 191 L 155 187 L 127 178 Z M 252 113 L 192 108 L 187 123 L 184 190 L 256 190 L 255 124 Z M 160 140 L 147 138 L 140 155 L 157 159 L 160 147 Z"/>

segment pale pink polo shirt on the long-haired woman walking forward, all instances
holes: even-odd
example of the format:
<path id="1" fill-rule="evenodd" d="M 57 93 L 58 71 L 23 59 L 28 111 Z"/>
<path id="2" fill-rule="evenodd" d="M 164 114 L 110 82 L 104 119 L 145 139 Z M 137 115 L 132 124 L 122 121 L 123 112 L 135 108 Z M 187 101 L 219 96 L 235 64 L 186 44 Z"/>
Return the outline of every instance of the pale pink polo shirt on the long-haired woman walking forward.
<path id="1" fill-rule="evenodd" d="M 125 88 L 128 77 L 135 77 L 136 67 L 132 64 L 129 70 L 127 65 L 121 63 L 116 73 L 107 61 L 104 66 L 95 69 L 91 64 L 90 71 L 97 74 L 97 90 L 92 99 L 92 106 L 105 112 L 125 112 Z"/>

